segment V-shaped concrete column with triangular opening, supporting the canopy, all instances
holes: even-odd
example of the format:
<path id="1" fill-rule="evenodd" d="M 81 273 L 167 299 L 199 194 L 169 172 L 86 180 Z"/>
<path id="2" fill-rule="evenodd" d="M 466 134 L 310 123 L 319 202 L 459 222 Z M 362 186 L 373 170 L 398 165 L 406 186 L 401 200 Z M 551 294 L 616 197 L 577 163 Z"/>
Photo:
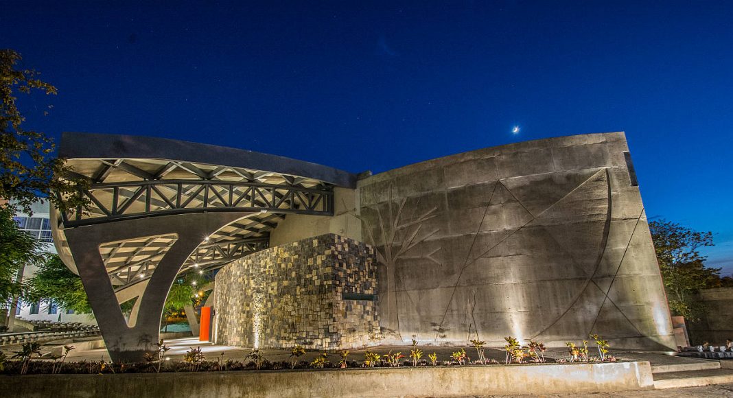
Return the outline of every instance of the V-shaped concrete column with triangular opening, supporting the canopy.
<path id="1" fill-rule="evenodd" d="M 89 304 L 113 361 L 143 361 L 145 353 L 155 350 L 163 305 L 185 259 L 206 236 L 247 214 L 165 215 L 65 230 L 84 290 L 89 296 Z M 178 239 L 155 267 L 147 287 L 138 298 L 136 323 L 129 327 L 119 309 L 99 246 L 107 242 L 165 234 L 177 234 Z"/>

